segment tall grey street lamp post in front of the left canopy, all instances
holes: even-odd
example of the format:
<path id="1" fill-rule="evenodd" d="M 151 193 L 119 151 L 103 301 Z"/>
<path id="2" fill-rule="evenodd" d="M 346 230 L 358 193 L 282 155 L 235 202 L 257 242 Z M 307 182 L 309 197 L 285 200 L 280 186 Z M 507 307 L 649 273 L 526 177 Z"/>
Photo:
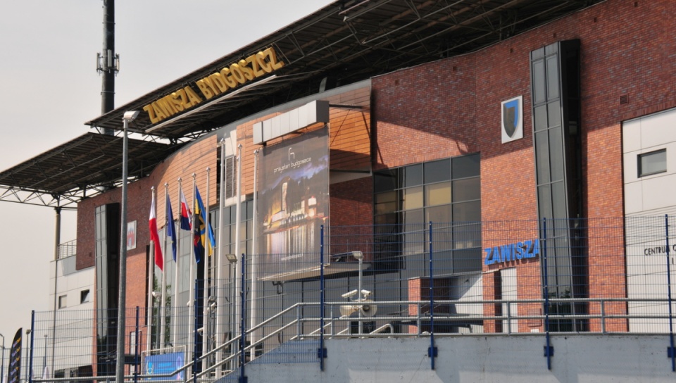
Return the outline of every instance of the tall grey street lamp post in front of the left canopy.
<path id="1" fill-rule="evenodd" d="M 139 115 L 138 111 L 126 111 L 123 115 L 122 145 L 122 196 L 120 197 L 120 283 L 118 292 L 118 344 L 115 358 L 115 382 L 125 381 L 125 315 L 127 299 L 127 130 L 129 123 Z"/>

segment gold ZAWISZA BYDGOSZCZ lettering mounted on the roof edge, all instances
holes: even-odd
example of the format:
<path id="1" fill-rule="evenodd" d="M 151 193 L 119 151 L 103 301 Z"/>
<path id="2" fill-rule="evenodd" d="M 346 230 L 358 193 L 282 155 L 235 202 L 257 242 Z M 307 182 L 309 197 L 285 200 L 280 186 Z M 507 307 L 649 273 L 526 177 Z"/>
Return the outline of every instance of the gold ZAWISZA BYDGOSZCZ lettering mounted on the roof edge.
<path id="1" fill-rule="evenodd" d="M 196 106 L 204 99 L 211 99 L 246 82 L 273 73 L 282 66 L 284 61 L 277 60 L 275 49 L 268 48 L 197 80 L 195 85 L 201 96 L 192 87 L 187 86 L 149 103 L 143 110 L 148 113 L 151 123 L 159 123 L 165 118 Z"/>

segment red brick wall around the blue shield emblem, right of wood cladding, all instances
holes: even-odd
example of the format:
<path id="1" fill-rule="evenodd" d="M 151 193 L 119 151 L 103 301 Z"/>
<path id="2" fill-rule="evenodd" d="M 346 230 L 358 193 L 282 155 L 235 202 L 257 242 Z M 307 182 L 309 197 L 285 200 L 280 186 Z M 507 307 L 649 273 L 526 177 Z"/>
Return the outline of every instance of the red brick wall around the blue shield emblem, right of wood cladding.
<path id="1" fill-rule="evenodd" d="M 676 7 L 670 0 L 606 1 L 474 54 L 376 77 L 375 167 L 480 151 L 482 220 L 537 218 L 529 54 L 553 42 L 580 39 L 584 213 L 589 218 L 621 217 L 621 122 L 676 107 L 673 20 Z M 524 138 L 501 144 L 500 103 L 518 95 L 526 113 Z M 620 96 L 627 103 L 620 103 Z M 611 248 L 621 251 L 621 233 L 600 226 L 590 229 L 589 237 L 615 238 Z M 484 240 L 494 246 L 499 238 L 484 232 Z M 624 284 L 618 283 L 625 274 L 622 257 L 609 260 L 608 249 L 589 250 L 590 293 L 625 296 Z M 520 285 L 539 284 L 537 263 L 531 265 L 518 266 Z M 484 296 L 493 293 L 484 278 Z M 592 327 L 596 329 L 595 322 Z M 615 328 L 625 329 L 625 322 Z"/>

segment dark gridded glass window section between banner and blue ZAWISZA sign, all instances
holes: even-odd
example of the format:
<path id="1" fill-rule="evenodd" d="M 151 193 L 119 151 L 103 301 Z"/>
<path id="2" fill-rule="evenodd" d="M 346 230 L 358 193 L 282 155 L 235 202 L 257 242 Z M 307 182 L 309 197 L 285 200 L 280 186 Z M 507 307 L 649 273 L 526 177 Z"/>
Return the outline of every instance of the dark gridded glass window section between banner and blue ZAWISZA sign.
<path id="1" fill-rule="evenodd" d="M 434 241 L 434 265 L 449 274 L 481 270 L 480 160 L 474 153 L 375 173 L 376 257 L 424 262 L 432 222 L 444 237 Z"/>

